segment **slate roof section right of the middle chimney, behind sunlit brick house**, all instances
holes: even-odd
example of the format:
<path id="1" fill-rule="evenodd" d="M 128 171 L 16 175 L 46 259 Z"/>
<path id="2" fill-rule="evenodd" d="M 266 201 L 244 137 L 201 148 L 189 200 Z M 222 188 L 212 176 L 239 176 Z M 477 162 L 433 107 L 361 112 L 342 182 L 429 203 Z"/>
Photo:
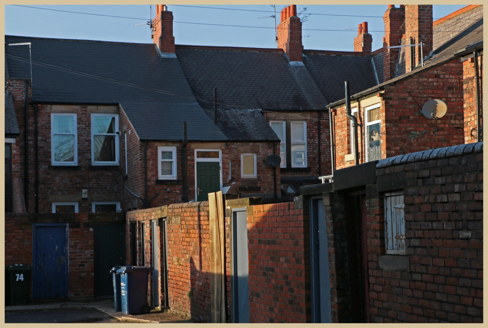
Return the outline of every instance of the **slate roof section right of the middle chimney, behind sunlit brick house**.
<path id="1" fill-rule="evenodd" d="M 351 95 L 376 85 L 371 57 L 306 53 L 304 64 L 328 102 L 344 98 L 344 81 Z"/>

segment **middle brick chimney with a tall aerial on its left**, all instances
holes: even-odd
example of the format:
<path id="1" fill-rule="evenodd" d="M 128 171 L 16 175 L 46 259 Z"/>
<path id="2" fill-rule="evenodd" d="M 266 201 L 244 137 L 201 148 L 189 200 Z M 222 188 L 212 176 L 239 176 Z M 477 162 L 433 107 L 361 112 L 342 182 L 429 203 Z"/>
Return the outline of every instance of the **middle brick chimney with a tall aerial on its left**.
<path id="1" fill-rule="evenodd" d="M 302 22 L 297 17 L 297 6 L 287 6 L 281 11 L 278 25 L 278 48 L 285 50 L 289 61 L 302 61 Z"/>

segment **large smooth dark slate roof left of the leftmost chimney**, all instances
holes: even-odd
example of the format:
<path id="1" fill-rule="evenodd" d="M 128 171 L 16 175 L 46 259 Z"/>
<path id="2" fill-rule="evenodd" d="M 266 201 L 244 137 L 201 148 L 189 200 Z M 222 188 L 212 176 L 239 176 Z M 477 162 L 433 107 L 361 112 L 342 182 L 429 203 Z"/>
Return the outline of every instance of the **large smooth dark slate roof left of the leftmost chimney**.
<path id="1" fill-rule="evenodd" d="M 33 99 L 121 104 L 142 140 L 227 140 L 193 99 L 176 58 L 153 44 L 5 36 L 32 43 Z M 6 46 L 10 78 L 30 78 L 25 46 Z M 16 60 L 20 58 L 24 61 Z"/>

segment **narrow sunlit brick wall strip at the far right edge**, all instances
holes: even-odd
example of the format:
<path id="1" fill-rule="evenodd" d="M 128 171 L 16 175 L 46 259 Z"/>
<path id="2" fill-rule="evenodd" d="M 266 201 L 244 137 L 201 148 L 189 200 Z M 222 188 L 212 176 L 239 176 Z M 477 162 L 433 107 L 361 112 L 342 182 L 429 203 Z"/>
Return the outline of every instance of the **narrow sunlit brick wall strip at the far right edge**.
<path id="1" fill-rule="evenodd" d="M 483 56 L 478 56 L 480 86 L 483 90 Z M 476 81 L 474 74 L 474 58 L 463 61 L 463 91 L 464 91 L 464 140 L 465 143 L 477 141 L 476 116 Z M 482 99 L 483 102 L 483 99 Z"/>

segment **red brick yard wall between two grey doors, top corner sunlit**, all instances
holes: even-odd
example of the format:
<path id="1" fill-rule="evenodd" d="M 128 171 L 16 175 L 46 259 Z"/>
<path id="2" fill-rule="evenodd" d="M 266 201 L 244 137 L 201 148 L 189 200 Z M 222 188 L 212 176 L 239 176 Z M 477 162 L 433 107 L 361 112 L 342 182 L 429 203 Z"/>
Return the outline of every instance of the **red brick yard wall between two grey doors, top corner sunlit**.
<path id="1" fill-rule="evenodd" d="M 247 217 L 251 323 L 305 323 L 310 308 L 303 209 L 254 205 Z M 306 251 L 306 252 L 305 252 Z"/>

